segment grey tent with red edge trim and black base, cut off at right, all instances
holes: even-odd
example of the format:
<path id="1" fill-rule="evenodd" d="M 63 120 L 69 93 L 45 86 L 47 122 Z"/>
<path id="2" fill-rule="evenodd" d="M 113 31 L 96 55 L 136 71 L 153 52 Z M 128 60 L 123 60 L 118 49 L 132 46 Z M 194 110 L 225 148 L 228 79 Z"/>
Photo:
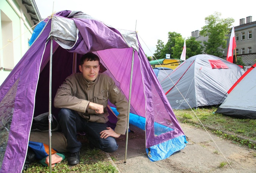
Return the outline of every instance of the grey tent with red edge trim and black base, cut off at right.
<path id="1" fill-rule="evenodd" d="M 216 113 L 238 118 L 256 119 L 256 63 L 227 92 Z"/>

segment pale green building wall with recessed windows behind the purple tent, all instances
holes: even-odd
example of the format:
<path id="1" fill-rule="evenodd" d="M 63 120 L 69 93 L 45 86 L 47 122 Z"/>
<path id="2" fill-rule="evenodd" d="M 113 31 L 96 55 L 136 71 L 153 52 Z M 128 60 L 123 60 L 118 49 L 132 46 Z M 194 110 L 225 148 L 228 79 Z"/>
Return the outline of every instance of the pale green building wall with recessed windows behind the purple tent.
<path id="1" fill-rule="evenodd" d="M 0 1 L 0 85 L 29 49 L 33 26 L 41 21 L 34 0 Z"/>

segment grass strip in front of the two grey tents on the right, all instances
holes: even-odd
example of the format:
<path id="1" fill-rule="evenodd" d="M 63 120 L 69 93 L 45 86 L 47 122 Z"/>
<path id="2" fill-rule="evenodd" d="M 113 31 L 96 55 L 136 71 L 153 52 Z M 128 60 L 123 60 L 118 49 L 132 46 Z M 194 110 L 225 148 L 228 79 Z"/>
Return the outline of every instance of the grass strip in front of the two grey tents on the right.
<path id="1" fill-rule="evenodd" d="M 246 145 L 249 148 L 256 149 L 256 145 L 249 140 L 240 139 L 242 136 L 250 140 L 256 141 L 256 120 L 241 119 L 225 116 L 223 114 L 212 113 L 215 107 L 206 106 L 202 108 L 173 110 L 177 119 L 182 123 L 201 123 L 219 129 L 214 132 L 218 136 L 231 140 L 239 145 Z M 216 109 L 215 109 L 216 111 Z M 196 114 L 196 115 L 195 115 Z M 197 118 L 198 117 L 198 118 Z M 200 121 L 199 121 L 199 120 Z M 233 135 L 224 134 L 221 131 L 228 132 Z"/>

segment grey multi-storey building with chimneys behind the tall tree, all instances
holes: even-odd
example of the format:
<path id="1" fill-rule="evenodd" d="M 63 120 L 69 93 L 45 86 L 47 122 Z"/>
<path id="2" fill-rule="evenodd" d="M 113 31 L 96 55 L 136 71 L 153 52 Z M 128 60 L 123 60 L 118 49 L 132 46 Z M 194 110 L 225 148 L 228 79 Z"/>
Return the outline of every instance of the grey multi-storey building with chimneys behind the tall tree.
<path id="1" fill-rule="evenodd" d="M 230 33 L 228 34 L 227 48 L 222 50 L 222 58 L 227 56 L 231 29 L 232 28 L 230 28 Z M 255 63 L 256 21 L 252 21 L 251 16 L 246 17 L 246 20 L 245 18 L 242 18 L 239 20 L 239 26 L 234 26 L 234 29 L 236 38 L 236 55 L 242 58 L 245 65 L 251 66 Z M 191 32 L 191 36 L 195 37 L 197 41 L 201 41 L 202 45 L 204 41 L 208 41 L 208 36 L 201 36 L 199 30 Z"/>

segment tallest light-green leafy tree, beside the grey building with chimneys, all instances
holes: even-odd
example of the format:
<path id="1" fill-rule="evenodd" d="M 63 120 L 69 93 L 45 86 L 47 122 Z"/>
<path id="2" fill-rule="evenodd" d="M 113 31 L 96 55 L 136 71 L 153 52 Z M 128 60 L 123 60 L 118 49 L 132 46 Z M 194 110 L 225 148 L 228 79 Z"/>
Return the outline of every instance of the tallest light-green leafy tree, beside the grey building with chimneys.
<path id="1" fill-rule="evenodd" d="M 221 48 L 227 47 L 230 26 L 235 21 L 233 18 L 221 19 L 220 17 L 221 13 L 218 12 L 206 17 L 206 25 L 200 31 L 200 35 L 208 36 L 208 42 L 204 42 L 204 44 L 206 45 L 205 53 L 209 55 L 222 56 Z"/>

